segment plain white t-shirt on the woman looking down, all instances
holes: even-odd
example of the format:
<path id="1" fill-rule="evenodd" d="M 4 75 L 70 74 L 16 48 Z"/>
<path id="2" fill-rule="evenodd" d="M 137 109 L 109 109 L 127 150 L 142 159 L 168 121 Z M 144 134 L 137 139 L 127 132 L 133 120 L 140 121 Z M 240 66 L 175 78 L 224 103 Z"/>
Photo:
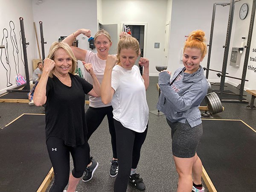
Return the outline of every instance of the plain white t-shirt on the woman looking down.
<path id="1" fill-rule="evenodd" d="M 111 87 L 115 90 L 112 98 L 113 118 L 125 128 L 142 133 L 148 124 L 148 104 L 144 80 L 139 67 L 131 70 L 116 65 L 113 67 Z"/>

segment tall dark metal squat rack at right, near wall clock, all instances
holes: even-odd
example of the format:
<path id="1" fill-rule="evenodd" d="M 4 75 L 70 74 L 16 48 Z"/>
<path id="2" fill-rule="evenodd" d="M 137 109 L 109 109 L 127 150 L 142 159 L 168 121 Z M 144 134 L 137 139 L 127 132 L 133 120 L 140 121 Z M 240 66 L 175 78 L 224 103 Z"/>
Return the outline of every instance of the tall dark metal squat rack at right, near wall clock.
<path id="1" fill-rule="evenodd" d="M 247 72 L 246 70 L 247 70 L 248 58 L 249 58 L 249 52 L 250 52 L 250 44 L 251 44 L 251 40 L 252 40 L 253 23 L 254 23 L 255 10 L 256 10 L 256 0 L 253 0 L 253 6 L 252 6 L 252 12 L 251 12 L 251 18 L 250 18 L 250 28 L 249 28 L 249 32 L 248 32 L 248 38 L 247 38 L 247 45 L 244 46 L 244 48 L 247 48 L 247 49 L 246 49 L 246 52 L 245 52 L 242 78 L 236 78 L 236 77 L 226 75 L 226 74 L 228 74 L 228 73 L 226 73 L 226 70 L 227 70 L 228 51 L 229 51 L 229 47 L 230 47 L 230 36 L 231 36 L 231 30 L 232 30 L 232 25 L 233 25 L 233 15 L 234 15 L 235 3 L 238 2 L 238 1 L 241 1 L 241 0 L 236 0 L 236 1 L 235 0 L 230 0 L 230 3 L 214 3 L 213 4 L 210 39 L 209 39 L 209 44 L 207 45 L 209 47 L 208 60 L 207 60 L 207 68 L 205 70 L 207 70 L 206 78 L 208 79 L 209 70 L 211 70 L 211 69 L 209 69 L 209 65 L 210 65 L 210 57 L 211 57 L 211 50 L 212 50 L 212 36 L 213 36 L 213 29 L 214 29 L 214 22 L 215 22 L 216 6 L 218 6 L 218 5 L 221 5 L 221 6 L 230 5 L 229 19 L 228 19 L 228 25 L 227 25 L 226 42 L 225 42 L 225 45 L 223 46 L 223 48 L 224 48 L 224 57 L 223 57 L 222 71 L 221 71 L 221 73 L 217 74 L 217 76 L 221 77 L 220 88 L 219 88 L 219 97 L 222 100 L 222 95 L 223 95 L 223 91 L 224 91 L 225 77 L 229 77 L 229 78 L 233 78 L 233 79 L 239 79 L 239 80 L 241 80 L 239 95 L 229 93 L 231 95 L 238 95 L 239 99 L 237 101 L 235 101 L 234 99 L 232 99 L 232 100 L 226 100 L 225 99 L 225 102 L 241 102 L 241 103 L 244 103 L 244 101 L 243 101 L 243 91 L 244 91 L 245 81 L 248 81 L 248 80 L 245 79 L 245 77 L 246 77 L 246 72 Z M 216 70 L 213 70 L 213 71 L 216 71 Z"/>

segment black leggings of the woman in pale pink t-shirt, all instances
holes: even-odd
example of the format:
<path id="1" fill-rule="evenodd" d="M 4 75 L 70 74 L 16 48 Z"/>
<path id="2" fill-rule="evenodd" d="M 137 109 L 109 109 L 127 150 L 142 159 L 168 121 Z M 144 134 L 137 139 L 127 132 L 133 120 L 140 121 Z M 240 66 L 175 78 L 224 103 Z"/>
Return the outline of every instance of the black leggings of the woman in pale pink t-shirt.
<path id="1" fill-rule="evenodd" d="M 108 117 L 108 128 L 109 133 L 111 135 L 111 144 L 112 144 L 112 151 L 113 151 L 113 158 L 117 159 L 116 154 L 116 132 L 113 122 L 113 108 L 112 106 L 103 107 L 103 108 L 92 108 L 89 107 L 85 113 L 88 135 L 87 139 L 89 140 L 90 136 L 93 134 L 94 131 L 99 127 L 104 117 L 107 115 Z M 89 154 L 90 154 L 90 147 L 89 147 Z M 89 161 L 90 162 L 90 155 Z"/>

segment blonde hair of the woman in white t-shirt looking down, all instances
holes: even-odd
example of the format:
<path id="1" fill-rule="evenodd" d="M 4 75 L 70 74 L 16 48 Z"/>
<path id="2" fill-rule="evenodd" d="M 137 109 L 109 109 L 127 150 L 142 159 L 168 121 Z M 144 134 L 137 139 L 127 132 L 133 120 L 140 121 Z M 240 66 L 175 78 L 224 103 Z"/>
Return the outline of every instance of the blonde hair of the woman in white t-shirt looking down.
<path id="1" fill-rule="evenodd" d="M 132 49 L 136 52 L 137 55 L 140 53 L 140 44 L 138 40 L 131 36 L 124 36 L 120 39 L 117 45 L 117 55 L 116 58 L 118 59 L 117 63 L 120 63 L 120 52 L 121 49 Z"/>

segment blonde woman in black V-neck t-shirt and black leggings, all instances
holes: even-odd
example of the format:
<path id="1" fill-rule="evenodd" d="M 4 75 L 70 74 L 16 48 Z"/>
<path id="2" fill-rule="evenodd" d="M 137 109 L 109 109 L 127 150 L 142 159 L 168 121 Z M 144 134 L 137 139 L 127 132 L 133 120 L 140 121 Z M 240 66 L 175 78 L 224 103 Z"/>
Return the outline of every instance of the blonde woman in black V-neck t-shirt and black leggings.
<path id="1" fill-rule="evenodd" d="M 91 64 L 83 62 L 93 85 L 75 75 L 76 58 L 69 45 L 52 44 L 35 89 L 34 103 L 45 105 L 46 144 L 55 173 L 50 192 L 74 192 L 88 164 L 89 145 L 85 121 L 85 94 L 100 96 L 100 84 Z M 74 169 L 70 172 L 70 154 Z"/>

